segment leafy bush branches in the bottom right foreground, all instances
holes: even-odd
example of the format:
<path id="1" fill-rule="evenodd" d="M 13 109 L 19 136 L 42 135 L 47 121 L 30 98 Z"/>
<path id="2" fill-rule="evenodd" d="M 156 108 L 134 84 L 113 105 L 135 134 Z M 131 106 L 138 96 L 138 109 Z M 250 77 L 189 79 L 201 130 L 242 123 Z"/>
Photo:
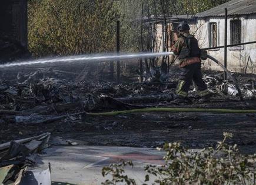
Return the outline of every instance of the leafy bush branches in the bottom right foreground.
<path id="1" fill-rule="evenodd" d="M 226 140 L 231 133 L 224 132 L 224 139 L 218 142 L 216 149 L 208 147 L 200 151 L 188 150 L 181 143 L 165 143 L 164 166 L 148 165 L 145 167 L 147 175 L 154 177 L 154 184 L 255 184 L 255 158 L 244 156 L 237 148 L 237 144 L 228 145 Z M 125 176 L 124 167 L 132 166 L 132 162 L 110 164 L 102 169 L 105 177 L 112 175 L 112 180 L 102 184 L 136 184 L 134 179 Z"/>

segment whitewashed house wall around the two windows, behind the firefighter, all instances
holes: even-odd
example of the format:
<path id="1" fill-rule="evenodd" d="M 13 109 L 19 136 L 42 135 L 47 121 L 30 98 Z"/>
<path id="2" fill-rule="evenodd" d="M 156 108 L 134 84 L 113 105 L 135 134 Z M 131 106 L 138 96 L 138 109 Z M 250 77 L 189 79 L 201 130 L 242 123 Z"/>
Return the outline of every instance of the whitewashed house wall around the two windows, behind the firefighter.
<path id="1" fill-rule="evenodd" d="M 230 21 L 233 19 L 241 20 L 241 42 L 251 42 L 256 41 L 256 14 L 247 15 L 247 16 L 238 16 L 228 18 L 228 45 L 231 44 L 231 31 L 230 31 Z M 211 17 L 205 19 L 198 19 L 197 27 L 200 26 L 198 32 L 195 33 L 195 36 L 199 38 L 199 43 L 201 48 L 210 47 L 209 38 L 210 38 L 210 22 L 217 23 L 217 46 L 224 45 L 224 17 Z M 217 58 L 221 62 L 224 61 L 224 48 L 221 49 L 212 49 L 208 53 Z M 227 68 L 228 70 L 234 72 L 244 72 L 245 66 L 248 62 L 248 57 L 251 57 L 249 60 L 247 73 L 256 73 L 256 43 L 250 45 L 244 45 L 241 47 L 228 48 L 227 51 Z M 221 70 L 221 68 L 211 62 L 211 60 L 204 61 L 205 69 L 212 70 Z"/>

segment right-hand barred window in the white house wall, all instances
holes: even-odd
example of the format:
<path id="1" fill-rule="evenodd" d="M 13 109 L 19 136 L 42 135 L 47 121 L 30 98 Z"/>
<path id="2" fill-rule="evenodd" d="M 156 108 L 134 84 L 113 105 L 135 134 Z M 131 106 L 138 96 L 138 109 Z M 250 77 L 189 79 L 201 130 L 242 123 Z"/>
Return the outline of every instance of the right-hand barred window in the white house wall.
<path id="1" fill-rule="evenodd" d="M 241 20 L 230 21 L 231 45 L 241 43 Z"/>

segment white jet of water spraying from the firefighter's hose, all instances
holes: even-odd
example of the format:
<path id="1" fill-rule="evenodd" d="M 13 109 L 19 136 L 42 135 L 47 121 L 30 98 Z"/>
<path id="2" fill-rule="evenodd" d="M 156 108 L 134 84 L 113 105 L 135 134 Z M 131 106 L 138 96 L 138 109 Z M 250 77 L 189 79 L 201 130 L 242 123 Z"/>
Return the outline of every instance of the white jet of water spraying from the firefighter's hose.
<path id="1" fill-rule="evenodd" d="M 15 66 L 26 66 L 26 65 L 36 65 L 36 64 L 46 64 L 46 63 L 56 63 L 56 62 L 107 62 L 115 60 L 128 60 L 134 58 L 154 58 L 157 56 L 167 56 L 174 55 L 174 52 L 159 52 L 159 53 L 117 53 L 107 54 L 107 55 L 78 55 L 78 56 L 64 56 L 59 58 L 46 58 L 38 60 L 28 60 L 24 62 L 14 62 L 6 63 L 0 65 L 0 68 L 10 68 Z"/>

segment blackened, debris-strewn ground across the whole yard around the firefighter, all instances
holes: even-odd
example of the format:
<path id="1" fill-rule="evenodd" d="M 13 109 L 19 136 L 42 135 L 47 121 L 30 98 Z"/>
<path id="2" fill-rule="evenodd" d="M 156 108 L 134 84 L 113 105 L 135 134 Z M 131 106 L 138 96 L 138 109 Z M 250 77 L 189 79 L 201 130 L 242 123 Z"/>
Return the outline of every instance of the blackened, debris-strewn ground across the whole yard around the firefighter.
<path id="1" fill-rule="evenodd" d="M 193 86 L 191 102 L 172 103 L 179 69 L 172 67 L 169 81 L 150 78 L 138 83 L 135 70 L 109 80 L 104 65 L 20 66 L 0 72 L 1 143 L 51 132 L 79 144 L 156 147 L 180 141 L 190 148 L 215 146 L 223 132 L 231 132 L 243 152 L 256 150 L 256 114 L 150 112 L 117 116 L 90 116 L 88 112 L 139 109 L 141 107 L 189 107 L 255 109 L 256 76 L 234 74 L 242 90 L 241 102 L 230 79 L 222 72 L 204 71 L 214 93 L 200 102 Z"/>

